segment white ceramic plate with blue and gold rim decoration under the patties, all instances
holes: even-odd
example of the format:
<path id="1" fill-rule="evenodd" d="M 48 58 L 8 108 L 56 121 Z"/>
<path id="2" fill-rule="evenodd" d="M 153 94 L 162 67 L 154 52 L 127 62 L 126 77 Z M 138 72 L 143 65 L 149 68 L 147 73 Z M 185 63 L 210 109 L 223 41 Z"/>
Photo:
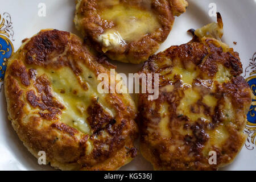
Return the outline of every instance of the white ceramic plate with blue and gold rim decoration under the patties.
<path id="1" fill-rule="evenodd" d="M 191 35 L 187 33 L 190 28 L 199 28 L 205 24 L 216 21 L 216 17 L 210 16 L 214 12 L 214 6 L 222 15 L 224 21 L 223 41 L 235 51 L 240 53 L 245 76 L 251 87 L 256 85 L 256 0 L 188 0 L 189 7 L 187 13 L 176 18 L 174 28 L 168 36 L 166 42 L 162 44 L 159 51 L 187 43 L 191 40 Z M 44 3 L 44 4 L 41 4 Z M 39 16 L 38 11 L 46 6 L 46 16 Z M 58 30 L 70 31 L 80 36 L 73 24 L 75 11 L 75 0 L 0 0 L 0 24 L 5 19 L 5 24 L 0 26 L 0 46 L 16 51 L 24 38 L 32 35 L 44 28 L 56 28 Z M 42 12 L 41 12 L 42 13 Z M 42 15 L 42 14 L 41 14 Z M 6 32 L 6 34 L 5 34 Z M 7 39 L 6 39 L 7 38 Z M 9 40 L 13 44 L 9 46 L 4 42 Z M 233 42 L 237 42 L 235 45 Z M 0 64 L 2 69 L 3 58 L 0 50 Z M 10 55 L 9 55 L 10 56 Z M 132 65 L 113 62 L 117 65 L 119 73 L 134 73 L 141 65 Z M 246 69 L 247 68 L 247 69 Z M 245 74 L 246 69 L 246 74 Z M 0 69 L 1 70 L 1 69 Z M 2 87 L 1 82 L 1 88 Z M 225 167 L 225 170 L 255 170 L 256 169 L 256 100 L 254 95 L 254 105 L 249 113 L 250 122 L 247 123 L 248 140 L 236 160 Z M 49 166 L 39 165 L 34 156 L 27 151 L 20 142 L 11 123 L 7 119 L 6 101 L 3 89 L 0 92 L 0 169 L 1 170 L 49 170 Z M 254 138 L 255 137 L 255 138 Z M 133 162 L 121 168 L 122 170 L 150 170 L 151 165 L 137 156 Z"/>

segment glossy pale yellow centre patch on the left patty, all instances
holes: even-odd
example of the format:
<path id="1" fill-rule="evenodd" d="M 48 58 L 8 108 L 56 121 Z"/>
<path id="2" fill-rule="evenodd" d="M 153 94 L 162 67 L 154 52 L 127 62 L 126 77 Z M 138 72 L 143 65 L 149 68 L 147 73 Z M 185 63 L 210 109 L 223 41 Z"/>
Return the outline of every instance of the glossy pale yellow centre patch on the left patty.
<path id="1" fill-rule="evenodd" d="M 75 127 L 85 134 L 91 134 L 90 126 L 86 122 L 88 114 L 86 109 L 92 104 L 92 98 L 98 100 L 98 104 L 112 117 L 115 111 L 106 103 L 106 95 L 97 91 L 97 78 L 84 65 L 79 65 L 83 72 L 80 76 L 82 83 L 86 84 L 88 90 L 84 90 L 79 84 L 77 77 L 69 67 L 63 67 L 58 70 L 36 68 L 37 76 L 45 74 L 51 82 L 53 97 L 65 106 L 60 116 L 60 121 Z"/>

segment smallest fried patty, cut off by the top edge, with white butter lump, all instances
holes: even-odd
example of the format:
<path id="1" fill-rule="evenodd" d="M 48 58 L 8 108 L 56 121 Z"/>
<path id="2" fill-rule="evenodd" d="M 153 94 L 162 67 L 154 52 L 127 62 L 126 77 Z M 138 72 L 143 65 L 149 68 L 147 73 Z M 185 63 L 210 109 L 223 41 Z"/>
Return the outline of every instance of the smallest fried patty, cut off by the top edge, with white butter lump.
<path id="1" fill-rule="evenodd" d="M 77 0 L 76 28 L 98 52 L 142 63 L 166 40 L 185 0 Z"/>

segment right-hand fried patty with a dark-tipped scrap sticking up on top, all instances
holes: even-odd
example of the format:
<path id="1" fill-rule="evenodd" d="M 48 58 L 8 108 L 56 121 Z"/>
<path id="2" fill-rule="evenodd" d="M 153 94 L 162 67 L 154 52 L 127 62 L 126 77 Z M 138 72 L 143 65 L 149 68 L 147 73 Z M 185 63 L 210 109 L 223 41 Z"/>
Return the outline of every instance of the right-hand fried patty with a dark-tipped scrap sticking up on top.
<path id="1" fill-rule="evenodd" d="M 232 162 L 245 142 L 251 90 L 240 76 L 238 53 L 209 38 L 221 37 L 222 26 L 218 14 L 218 24 L 196 30 L 191 42 L 143 65 L 141 73 L 159 73 L 159 98 L 138 98 L 141 152 L 154 169 L 218 169 Z M 217 154 L 216 165 L 210 151 Z"/>

